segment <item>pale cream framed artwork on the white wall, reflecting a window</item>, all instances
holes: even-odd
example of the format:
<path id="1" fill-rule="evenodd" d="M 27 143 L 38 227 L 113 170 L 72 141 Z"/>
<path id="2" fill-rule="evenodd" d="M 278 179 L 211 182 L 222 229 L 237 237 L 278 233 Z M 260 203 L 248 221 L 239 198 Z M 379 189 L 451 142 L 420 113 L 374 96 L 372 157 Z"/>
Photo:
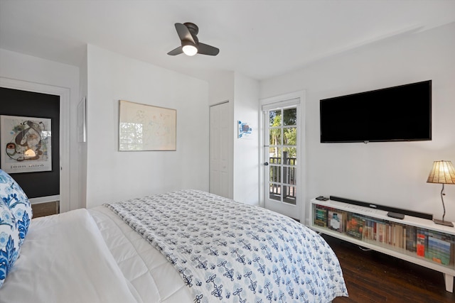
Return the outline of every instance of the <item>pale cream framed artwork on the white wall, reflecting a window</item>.
<path id="1" fill-rule="evenodd" d="M 176 150 L 176 109 L 119 100 L 119 150 Z"/>

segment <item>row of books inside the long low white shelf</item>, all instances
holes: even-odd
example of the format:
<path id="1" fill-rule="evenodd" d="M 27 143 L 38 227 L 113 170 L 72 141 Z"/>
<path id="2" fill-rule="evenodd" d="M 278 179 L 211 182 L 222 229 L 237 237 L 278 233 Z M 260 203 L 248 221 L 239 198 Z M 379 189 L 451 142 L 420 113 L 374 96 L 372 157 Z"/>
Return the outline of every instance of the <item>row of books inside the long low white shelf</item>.
<path id="1" fill-rule="evenodd" d="M 377 242 L 395 250 L 408 250 L 443 265 L 454 265 L 453 235 L 317 204 L 314 207 L 314 225 L 344 233 L 361 241 Z"/>

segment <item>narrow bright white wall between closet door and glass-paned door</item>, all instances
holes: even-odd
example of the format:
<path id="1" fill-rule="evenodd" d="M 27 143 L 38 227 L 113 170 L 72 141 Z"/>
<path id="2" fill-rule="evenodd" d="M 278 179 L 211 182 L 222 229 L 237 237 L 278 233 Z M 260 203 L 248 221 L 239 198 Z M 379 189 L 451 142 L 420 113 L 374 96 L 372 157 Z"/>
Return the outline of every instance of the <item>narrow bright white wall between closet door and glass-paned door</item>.
<path id="1" fill-rule="evenodd" d="M 235 73 L 234 92 L 234 199 L 259 205 L 259 82 Z M 237 121 L 248 122 L 252 134 L 237 138 Z"/>

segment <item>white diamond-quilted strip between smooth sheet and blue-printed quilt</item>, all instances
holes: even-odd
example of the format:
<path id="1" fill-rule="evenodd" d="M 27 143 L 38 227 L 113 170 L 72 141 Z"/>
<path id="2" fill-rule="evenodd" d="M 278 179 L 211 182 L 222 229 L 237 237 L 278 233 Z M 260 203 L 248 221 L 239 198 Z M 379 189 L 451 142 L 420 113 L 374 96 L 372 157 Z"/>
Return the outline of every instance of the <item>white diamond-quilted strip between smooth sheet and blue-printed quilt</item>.
<path id="1" fill-rule="evenodd" d="M 139 302 L 193 302 L 191 291 L 159 250 L 105 206 L 89 209 Z"/>

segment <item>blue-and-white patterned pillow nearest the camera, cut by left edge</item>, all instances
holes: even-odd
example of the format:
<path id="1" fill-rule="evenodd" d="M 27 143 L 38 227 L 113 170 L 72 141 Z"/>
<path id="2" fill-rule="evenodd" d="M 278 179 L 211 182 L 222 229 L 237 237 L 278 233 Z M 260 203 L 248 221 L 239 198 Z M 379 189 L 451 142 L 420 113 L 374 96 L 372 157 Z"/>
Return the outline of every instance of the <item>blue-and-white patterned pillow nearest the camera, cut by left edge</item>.
<path id="1" fill-rule="evenodd" d="M 1 195 L 3 195 L 3 190 Z M 8 272 L 13 268 L 20 249 L 16 219 L 2 199 L 0 201 L 0 287 Z"/>

